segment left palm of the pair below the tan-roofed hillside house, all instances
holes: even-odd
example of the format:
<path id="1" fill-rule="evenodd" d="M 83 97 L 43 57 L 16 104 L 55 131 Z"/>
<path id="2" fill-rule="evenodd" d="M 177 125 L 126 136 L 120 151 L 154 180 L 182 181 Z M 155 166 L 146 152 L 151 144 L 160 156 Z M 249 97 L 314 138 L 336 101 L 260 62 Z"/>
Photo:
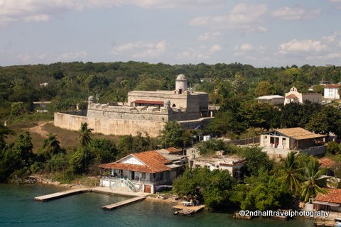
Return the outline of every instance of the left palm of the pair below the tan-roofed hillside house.
<path id="1" fill-rule="evenodd" d="M 288 153 L 286 159 L 281 159 L 281 162 L 283 163 L 283 169 L 281 170 L 282 177 L 286 181 L 288 189 L 290 189 L 294 194 L 298 194 L 300 191 L 300 179 L 302 178 L 301 168 L 298 167 L 296 159 L 296 152 L 293 151 Z"/>

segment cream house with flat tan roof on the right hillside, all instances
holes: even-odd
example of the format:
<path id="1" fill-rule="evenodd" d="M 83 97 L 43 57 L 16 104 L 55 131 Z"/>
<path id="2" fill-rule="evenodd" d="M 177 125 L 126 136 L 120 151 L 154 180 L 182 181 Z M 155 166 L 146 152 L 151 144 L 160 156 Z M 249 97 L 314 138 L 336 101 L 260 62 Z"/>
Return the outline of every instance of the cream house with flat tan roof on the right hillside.
<path id="1" fill-rule="evenodd" d="M 308 155 L 323 155 L 325 137 L 303 128 L 281 128 L 260 135 L 259 146 L 272 156 L 286 157 L 291 150 Z"/>

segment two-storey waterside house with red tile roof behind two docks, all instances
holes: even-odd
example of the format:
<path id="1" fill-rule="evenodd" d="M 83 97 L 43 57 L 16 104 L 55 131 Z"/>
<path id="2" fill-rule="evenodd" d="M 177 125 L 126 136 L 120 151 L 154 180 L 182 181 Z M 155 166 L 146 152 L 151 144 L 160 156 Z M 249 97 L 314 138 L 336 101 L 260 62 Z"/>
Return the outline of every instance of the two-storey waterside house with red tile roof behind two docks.
<path id="1" fill-rule="evenodd" d="M 181 155 L 166 156 L 168 158 L 151 150 L 99 165 L 100 168 L 109 170 L 109 174 L 102 177 L 100 186 L 155 193 L 162 185 L 170 185 L 187 163 L 187 159 Z"/>

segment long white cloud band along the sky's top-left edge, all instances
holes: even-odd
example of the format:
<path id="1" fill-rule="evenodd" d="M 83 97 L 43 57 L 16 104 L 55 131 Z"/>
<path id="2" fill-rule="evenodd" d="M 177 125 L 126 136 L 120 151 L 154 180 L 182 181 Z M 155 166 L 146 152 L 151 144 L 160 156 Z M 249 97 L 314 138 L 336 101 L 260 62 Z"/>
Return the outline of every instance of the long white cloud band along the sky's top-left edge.
<path id="1" fill-rule="evenodd" d="M 0 24 L 17 21 L 49 21 L 69 10 L 107 9 L 133 5 L 146 9 L 206 8 L 224 4 L 223 0 L 0 0 Z"/>

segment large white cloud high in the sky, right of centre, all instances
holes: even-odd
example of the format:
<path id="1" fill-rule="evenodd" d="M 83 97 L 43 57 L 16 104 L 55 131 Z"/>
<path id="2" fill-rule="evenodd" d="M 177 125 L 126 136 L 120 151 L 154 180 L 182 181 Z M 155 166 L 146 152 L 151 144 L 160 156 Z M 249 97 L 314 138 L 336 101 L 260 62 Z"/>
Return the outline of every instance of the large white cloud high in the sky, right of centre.
<path id="1" fill-rule="evenodd" d="M 261 26 L 266 13 L 265 4 L 237 4 L 227 15 L 198 16 L 193 18 L 190 26 L 210 26 L 215 29 L 229 28 L 248 32 L 266 32 Z"/>

